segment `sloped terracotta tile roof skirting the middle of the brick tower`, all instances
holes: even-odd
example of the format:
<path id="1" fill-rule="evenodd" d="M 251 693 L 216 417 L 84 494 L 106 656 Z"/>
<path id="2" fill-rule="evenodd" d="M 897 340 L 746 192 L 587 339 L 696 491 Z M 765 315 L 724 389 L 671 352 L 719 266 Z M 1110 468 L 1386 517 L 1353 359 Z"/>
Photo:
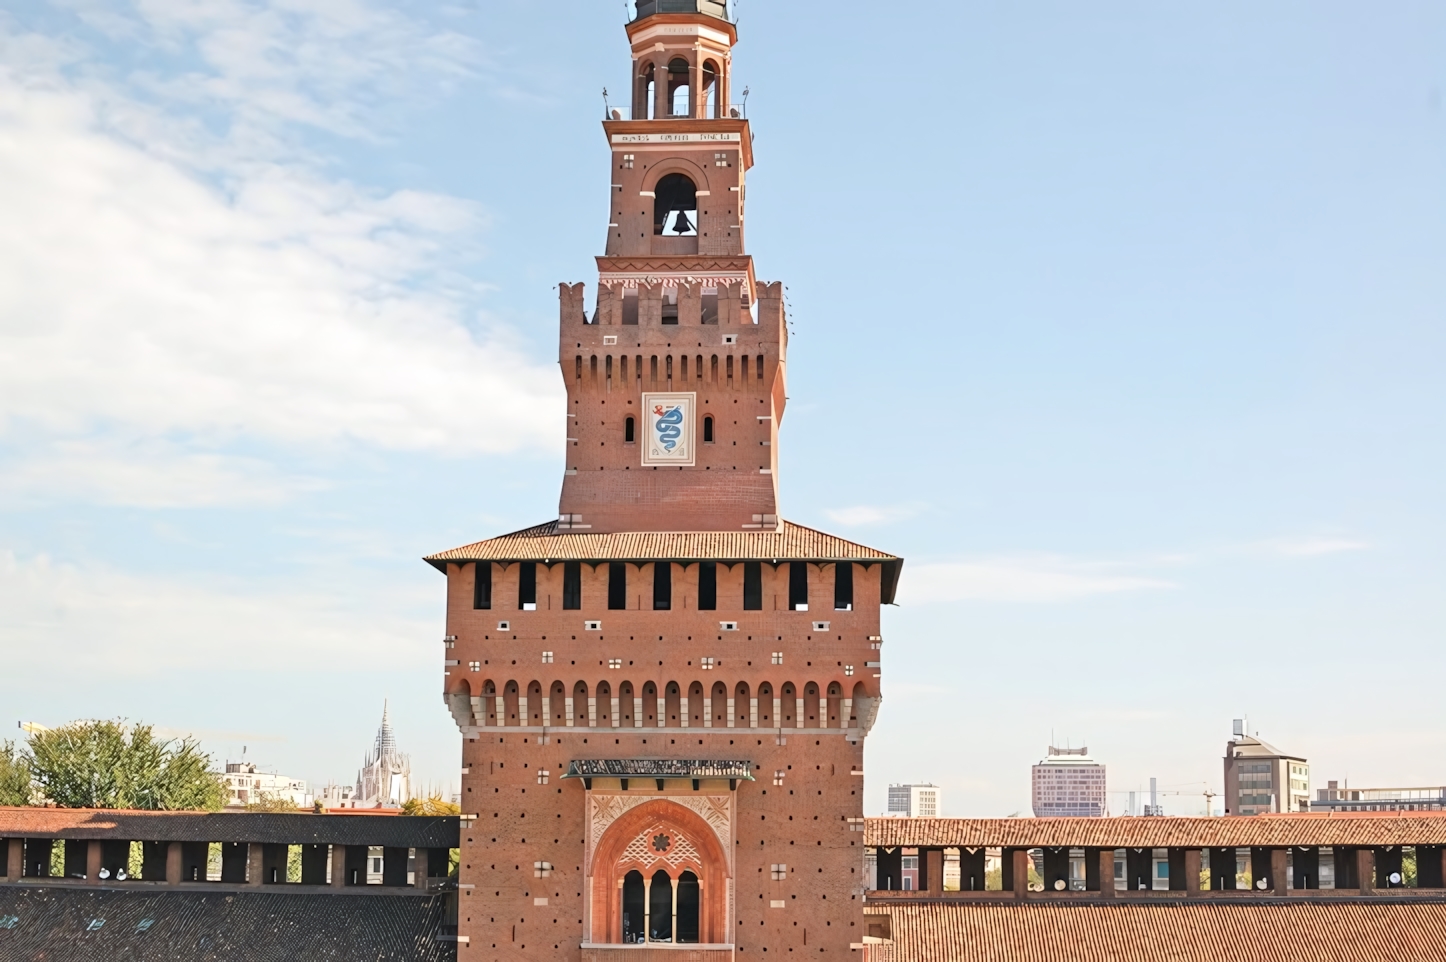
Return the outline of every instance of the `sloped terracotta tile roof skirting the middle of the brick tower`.
<path id="1" fill-rule="evenodd" d="M 558 534 L 557 522 L 427 556 L 447 561 L 898 561 L 897 556 L 791 521 L 779 531 L 620 531 Z"/>

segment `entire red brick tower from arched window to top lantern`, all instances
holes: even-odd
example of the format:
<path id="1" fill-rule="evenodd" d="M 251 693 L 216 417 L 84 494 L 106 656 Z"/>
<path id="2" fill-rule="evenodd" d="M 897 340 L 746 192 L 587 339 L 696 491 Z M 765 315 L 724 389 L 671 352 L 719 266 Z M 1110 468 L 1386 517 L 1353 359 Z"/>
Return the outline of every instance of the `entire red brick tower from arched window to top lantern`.
<path id="1" fill-rule="evenodd" d="M 778 516 L 788 339 L 743 243 L 726 4 L 639 0 L 628 38 L 593 315 L 560 288 L 558 518 L 427 558 L 464 738 L 458 958 L 850 958 L 902 560 Z"/>

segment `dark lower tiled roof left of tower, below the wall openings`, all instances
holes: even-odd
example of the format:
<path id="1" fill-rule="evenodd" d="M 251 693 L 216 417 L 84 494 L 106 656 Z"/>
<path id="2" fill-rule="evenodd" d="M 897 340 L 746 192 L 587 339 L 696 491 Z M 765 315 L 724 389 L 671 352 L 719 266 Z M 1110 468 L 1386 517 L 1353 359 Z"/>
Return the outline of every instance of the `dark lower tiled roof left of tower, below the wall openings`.
<path id="1" fill-rule="evenodd" d="M 6 962 L 454 962 L 444 895 L 0 885 Z"/>

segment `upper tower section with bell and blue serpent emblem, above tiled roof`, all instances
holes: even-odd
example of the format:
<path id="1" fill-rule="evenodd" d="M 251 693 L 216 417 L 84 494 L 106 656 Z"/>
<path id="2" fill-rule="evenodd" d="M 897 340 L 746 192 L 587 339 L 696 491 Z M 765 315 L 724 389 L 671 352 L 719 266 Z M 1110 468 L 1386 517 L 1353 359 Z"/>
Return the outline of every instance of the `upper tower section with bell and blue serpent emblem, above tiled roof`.
<path id="1" fill-rule="evenodd" d="M 737 29 L 711 0 L 643 0 L 632 106 L 609 107 L 596 308 L 562 285 L 570 531 L 778 527 L 782 286 L 743 243 L 752 135 L 732 98 Z M 672 424 L 681 418 L 681 422 Z"/>

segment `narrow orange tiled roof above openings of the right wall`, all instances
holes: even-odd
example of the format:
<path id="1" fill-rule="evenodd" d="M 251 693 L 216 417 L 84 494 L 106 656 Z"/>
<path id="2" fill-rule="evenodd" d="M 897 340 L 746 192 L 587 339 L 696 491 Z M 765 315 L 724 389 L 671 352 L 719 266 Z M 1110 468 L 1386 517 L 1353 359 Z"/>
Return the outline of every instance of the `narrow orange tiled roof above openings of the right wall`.
<path id="1" fill-rule="evenodd" d="M 869 819 L 881 848 L 1245 848 L 1446 845 L 1446 812 L 1257 814 L 1216 819 Z"/>

